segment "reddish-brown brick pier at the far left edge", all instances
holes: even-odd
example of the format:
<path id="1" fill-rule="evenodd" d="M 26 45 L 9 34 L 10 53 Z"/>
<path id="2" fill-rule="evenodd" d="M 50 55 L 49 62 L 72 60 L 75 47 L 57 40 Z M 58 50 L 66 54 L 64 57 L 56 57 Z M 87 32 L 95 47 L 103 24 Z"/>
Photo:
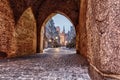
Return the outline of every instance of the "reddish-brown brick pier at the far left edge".
<path id="1" fill-rule="evenodd" d="M 8 0 L 0 0 L 0 52 L 15 53 L 14 18 Z"/>

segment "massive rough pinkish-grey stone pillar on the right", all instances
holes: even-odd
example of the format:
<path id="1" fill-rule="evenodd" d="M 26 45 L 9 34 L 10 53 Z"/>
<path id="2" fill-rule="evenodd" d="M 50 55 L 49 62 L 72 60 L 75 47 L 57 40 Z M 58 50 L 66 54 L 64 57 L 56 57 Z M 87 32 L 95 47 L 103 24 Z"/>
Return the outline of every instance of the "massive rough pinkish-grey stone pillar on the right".
<path id="1" fill-rule="evenodd" d="M 120 0 L 88 0 L 86 24 L 92 80 L 120 80 Z"/>

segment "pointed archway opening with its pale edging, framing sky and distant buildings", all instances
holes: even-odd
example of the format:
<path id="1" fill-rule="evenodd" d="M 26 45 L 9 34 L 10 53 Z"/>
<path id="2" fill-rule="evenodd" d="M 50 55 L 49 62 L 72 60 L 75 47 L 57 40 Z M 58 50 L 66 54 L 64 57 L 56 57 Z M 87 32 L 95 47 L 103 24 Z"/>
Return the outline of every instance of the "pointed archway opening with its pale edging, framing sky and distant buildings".
<path id="1" fill-rule="evenodd" d="M 66 48 L 76 51 L 75 26 L 64 13 L 52 13 L 41 27 L 40 52 L 47 48 Z"/>

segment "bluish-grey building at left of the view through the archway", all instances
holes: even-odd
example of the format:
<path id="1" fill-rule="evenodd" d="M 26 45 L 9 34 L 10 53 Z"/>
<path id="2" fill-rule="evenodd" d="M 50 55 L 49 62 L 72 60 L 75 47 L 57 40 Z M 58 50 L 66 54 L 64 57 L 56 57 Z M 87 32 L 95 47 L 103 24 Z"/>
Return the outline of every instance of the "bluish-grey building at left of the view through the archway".
<path id="1" fill-rule="evenodd" d="M 57 31 L 53 19 L 50 19 L 45 26 L 44 48 L 54 47 L 60 44 L 59 32 Z"/>

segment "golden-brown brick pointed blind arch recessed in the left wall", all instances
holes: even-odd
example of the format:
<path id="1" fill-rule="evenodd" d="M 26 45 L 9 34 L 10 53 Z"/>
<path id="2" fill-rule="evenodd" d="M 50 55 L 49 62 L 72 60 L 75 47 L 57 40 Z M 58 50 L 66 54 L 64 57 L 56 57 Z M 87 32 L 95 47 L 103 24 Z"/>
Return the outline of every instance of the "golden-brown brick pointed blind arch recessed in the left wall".
<path id="1" fill-rule="evenodd" d="M 31 8 L 28 8 L 21 16 L 16 31 L 16 55 L 22 56 L 36 53 L 36 21 Z"/>

